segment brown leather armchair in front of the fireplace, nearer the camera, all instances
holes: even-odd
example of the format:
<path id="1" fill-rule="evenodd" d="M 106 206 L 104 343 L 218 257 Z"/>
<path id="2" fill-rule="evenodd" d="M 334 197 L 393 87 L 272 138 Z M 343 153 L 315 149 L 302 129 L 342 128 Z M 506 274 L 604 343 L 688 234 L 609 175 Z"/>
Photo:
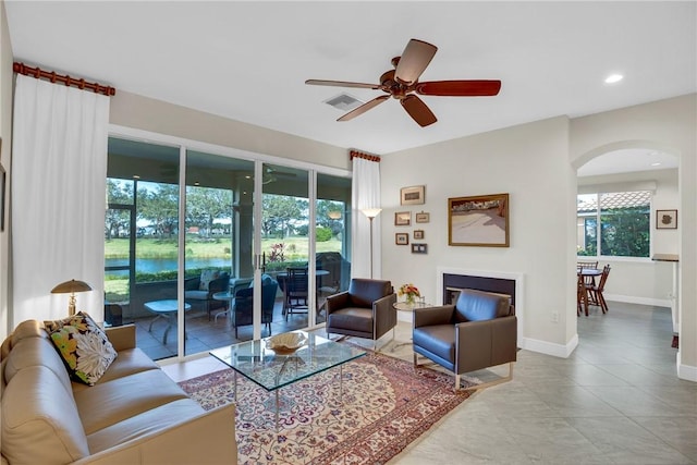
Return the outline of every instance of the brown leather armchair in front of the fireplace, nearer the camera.
<path id="1" fill-rule="evenodd" d="M 481 389 L 513 378 L 517 318 L 506 295 L 466 289 L 455 305 L 414 309 L 414 365 L 418 354 L 455 374 L 509 364 L 509 375 L 466 389 Z"/>

